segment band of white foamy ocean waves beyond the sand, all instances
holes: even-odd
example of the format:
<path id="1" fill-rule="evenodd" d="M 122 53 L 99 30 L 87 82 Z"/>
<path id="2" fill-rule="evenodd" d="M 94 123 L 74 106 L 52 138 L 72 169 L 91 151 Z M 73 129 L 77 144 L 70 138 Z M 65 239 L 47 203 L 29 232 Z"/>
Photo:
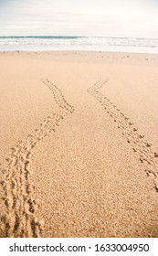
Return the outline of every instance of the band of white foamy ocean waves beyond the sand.
<path id="1" fill-rule="evenodd" d="M 0 37 L 0 51 L 86 50 L 158 53 L 158 38 Z"/>

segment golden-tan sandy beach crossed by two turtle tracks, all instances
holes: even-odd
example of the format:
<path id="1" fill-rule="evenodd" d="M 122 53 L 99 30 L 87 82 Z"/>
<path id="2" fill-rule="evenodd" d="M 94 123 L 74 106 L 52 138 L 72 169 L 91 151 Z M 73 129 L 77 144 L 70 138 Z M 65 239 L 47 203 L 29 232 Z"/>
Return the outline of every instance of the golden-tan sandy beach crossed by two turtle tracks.
<path id="1" fill-rule="evenodd" d="M 0 237 L 158 237 L 158 55 L 0 67 Z"/>

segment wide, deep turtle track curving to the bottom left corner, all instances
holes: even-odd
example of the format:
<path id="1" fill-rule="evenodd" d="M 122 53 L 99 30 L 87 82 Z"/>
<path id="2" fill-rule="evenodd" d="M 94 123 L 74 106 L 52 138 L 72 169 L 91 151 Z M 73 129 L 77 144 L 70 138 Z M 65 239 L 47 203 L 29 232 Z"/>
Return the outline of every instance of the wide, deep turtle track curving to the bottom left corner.
<path id="1" fill-rule="evenodd" d="M 55 132 L 59 123 L 74 108 L 65 100 L 64 94 L 50 80 L 42 82 L 53 92 L 53 97 L 62 112 L 47 116 L 34 134 L 29 134 L 26 140 L 19 141 L 11 149 L 11 154 L 6 158 L 6 167 L 0 167 L 4 178 L 0 184 L 3 187 L 4 197 L 1 199 L 5 205 L 5 215 L 0 219 L 0 237 L 39 238 L 42 236 L 44 221 L 37 219 L 39 202 L 34 199 L 30 182 L 29 163 L 33 149 L 50 133 Z"/>

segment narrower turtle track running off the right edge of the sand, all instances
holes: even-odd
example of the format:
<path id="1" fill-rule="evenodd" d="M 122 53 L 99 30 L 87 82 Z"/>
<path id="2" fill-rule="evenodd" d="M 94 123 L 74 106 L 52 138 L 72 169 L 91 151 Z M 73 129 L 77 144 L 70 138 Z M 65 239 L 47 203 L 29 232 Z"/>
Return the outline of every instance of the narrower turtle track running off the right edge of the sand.
<path id="1" fill-rule="evenodd" d="M 145 140 L 145 136 L 139 133 L 134 123 L 130 120 L 125 113 L 121 112 L 120 108 L 112 102 L 109 98 L 104 96 L 100 89 L 108 82 L 106 80 L 98 80 L 87 91 L 100 102 L 100 105 L 105 112 L 109 114 L 121 134 L 126 138 L 127 143 L 132 147 L 133 152 L 142 163 L 144 171 L 147 176 L 151 176 L 154 182 L 154 188 L 158 191 L 158 166 L 157 159 L 158 153 L 153 149 L 152 144 Z"/>

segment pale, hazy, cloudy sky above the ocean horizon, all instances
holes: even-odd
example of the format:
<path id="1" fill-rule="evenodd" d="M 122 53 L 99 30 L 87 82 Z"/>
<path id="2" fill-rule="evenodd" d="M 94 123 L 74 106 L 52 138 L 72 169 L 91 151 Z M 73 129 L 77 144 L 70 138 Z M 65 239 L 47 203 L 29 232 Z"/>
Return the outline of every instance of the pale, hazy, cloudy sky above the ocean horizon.
<path id="1" fill-rule="evenodd" d="M 158 38 L 158 0 L 0 0 L 0 36 Z"/>

